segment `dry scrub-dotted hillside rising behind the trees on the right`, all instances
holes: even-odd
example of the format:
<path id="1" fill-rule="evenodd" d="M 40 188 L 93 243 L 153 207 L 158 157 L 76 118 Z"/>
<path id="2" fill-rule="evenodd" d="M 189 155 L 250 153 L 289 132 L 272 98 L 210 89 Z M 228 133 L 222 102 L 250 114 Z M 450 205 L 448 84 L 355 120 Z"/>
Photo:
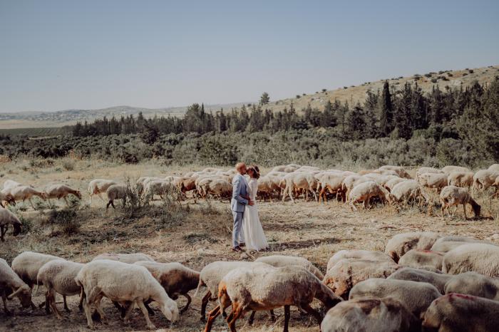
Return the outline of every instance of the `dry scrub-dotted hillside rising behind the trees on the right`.
<path id="1" fill-rule="evenodd" d="M 387 80 L 390 83 L 390 87 L 393 90 L 400 90 L 406 82 L 411 84 L 418 83 L 424 93 L 430 92 L 433 86 L 438 85 L 441 90 L 444 90 L 446 86 L 451 88 L 459 88 L 463 85 L 463 88 L 472 84 L 473 81 L 478 81 L 478 83 L 490 83 L 495 76 L 499 76 L 499 66 L 488 66 L 481 68 L 467 68 L 458 71 L 439 71 L 431 73 L 417 73 L 413 76 L 408 77 L 398 77 L 382 79 L 376 82 L 364 82 L 360 85 L 352 85 L 350 87 L 337 88 L 336 90 L 326 90 L 324 92 L 317 92 L 311 95 L 299 95 L 299 98 L 287 98 L 283 100 L 276 100 L 269 103 L 268 108 L 272 110 L 283 110 L 284 108 L 289 108 L 291 103 L 293 103 L 294 108 L 301 110 L 306 108 L 307 105 L 311 105 L 312 108 L 319 108 L 322 110 L 327 100 L 333 102 L 338 99 L 341 102 L 348 101 L 349 103 L 363 102 L 366 98 L 367 91 L 371 90 L 376 93 L 376 91 L 383 88 L 384 82 Z"/>

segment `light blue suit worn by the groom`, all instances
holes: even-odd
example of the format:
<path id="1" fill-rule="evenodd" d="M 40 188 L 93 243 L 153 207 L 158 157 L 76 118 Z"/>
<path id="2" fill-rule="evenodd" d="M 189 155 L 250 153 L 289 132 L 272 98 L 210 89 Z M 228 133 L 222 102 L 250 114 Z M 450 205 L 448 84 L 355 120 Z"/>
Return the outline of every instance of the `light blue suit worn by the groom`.
<path id="1" fill-rule="evenodd" d="M 241 195 L 248 195 L 248 184 L 245 177 L 238 174 L 232 179 L 232 199 L 230 199 L 230 207 L 232 208 L 232 216 L 234 217 L 234 227 L 232 228 L 233 248 L 244 242 L 242 218 L 245 214 L 245 207 L 248 204 L 248 200 L 242 198 Z"/>

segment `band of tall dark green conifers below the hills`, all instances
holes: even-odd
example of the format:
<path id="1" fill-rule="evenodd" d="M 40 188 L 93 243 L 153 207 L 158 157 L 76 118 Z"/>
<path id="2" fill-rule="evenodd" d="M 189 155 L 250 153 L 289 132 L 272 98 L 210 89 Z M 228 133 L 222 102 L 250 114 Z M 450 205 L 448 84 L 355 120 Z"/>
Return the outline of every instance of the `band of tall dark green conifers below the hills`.
<path id="1" fill-rule="evenodd" d="M 471 148 L 499 158 L 499 78 L 488 85 L 478 82 L 463 88 L 444 90 L 434 85 L 423 93 L 417 82 L 405 83 L 399 90 L 386 81 L 381 91 L 369 91 L 364 103 L 327 101 L 322 110 L 307 108 L 298 112 L 294 105 L 273 112 L 266 103 L 243 105 L 215 113 L 203 104 L 192 104 L 183 118 L 122 116 L 77 123 L 73 136 L 138 134 L 147 144 L 161 135 L 197 133 L 269 132 L 327 128 L 339 140 L 391 138 L 408 140 L 414 136 L 465 140 Z M 332 129 L 332 130 L 331 130 Z"/>

